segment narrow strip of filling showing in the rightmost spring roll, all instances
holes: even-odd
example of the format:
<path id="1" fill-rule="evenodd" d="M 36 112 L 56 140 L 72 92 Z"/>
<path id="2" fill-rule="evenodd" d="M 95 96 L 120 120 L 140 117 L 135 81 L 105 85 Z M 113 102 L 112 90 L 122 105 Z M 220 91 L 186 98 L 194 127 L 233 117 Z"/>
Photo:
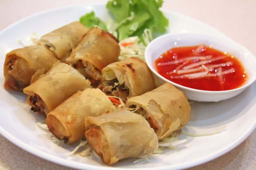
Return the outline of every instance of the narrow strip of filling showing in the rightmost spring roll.
<path id="1" fill-rule="evenodd" d="M 143 109 L 142 107 L 137 107 L 135 104 L 129 106 L 129 110 L 133 111 L 134 113 L 140 114 L 142 115 L 146 121 L 150 124 L 150 127 L 154 129 L 154 131 L 156 132 L 158 130 L 158 127 L 156 125 L 156 121 L 154 121 L 153 117 L 150 117 L 147 113 L 147 111 L 145 109 Z"/>

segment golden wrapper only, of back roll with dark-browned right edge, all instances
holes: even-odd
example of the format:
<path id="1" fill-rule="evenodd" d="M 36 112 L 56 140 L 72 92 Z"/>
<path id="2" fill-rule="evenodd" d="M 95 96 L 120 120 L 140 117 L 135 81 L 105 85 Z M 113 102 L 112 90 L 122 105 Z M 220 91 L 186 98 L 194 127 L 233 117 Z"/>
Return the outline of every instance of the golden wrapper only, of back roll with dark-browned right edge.
<path id="1" fill-rule="evenodd" d="M 75 65 L 81 60 L 83 64 L 89 62 L 97 69 L 102 70 L 117 60 L 120 54 L 118 42 L 112 34 L 100 28 L 91 28 L 79 45 L 72 50 L 66 62 Z"/>

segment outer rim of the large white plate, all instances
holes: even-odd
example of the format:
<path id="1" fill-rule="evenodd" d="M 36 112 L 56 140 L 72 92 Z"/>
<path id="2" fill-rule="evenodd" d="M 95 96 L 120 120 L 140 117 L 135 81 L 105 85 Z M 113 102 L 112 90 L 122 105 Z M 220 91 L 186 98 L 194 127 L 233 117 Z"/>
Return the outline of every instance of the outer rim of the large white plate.
<path id="1" fill-rule="evenodd" d="M 27 16 L 27 17 L 25 17 L 23 19 L 20 19 L 20 20 L 14 22 L 13 24 L 10 24 L 6 28 L 4 28 L 2 31 L 0 31 L 0 36 L 2 34 L 4 34 L 4 32 L 6 30 L 10 29 L 11 27 L 14 27 L 15 25 L 19 24 L 20 22 L 23 22 L 24 20 L 31 19 L 31 18 L 33 18 L 35 16 L 38 16 L 38 15 L 42 15 L 42 14 L 45 14 L 45 13 L 48 13 L 48 12 L 52 12 L 52 11 L 60 10 L 60 9 L 65 9 L 65 8 L 102 6 L 102 5 L 105 6 L 105 4 L 91 4 L 91 3 L 84 4 L 84 3 L 81 3 L 81 4 L 76 4 L 76 5 L 68 5 L 68 6 L 62 6 L 62 7 L 57 7 L 57 8 L 52 8 L 52 9 L 44 10 L 44 11 L 38 12 L 36 14 Z M 165 10 L 163 8 L 160 8 L 160 9 L 161 9 L 161 11 L 163 11 L 165 13 L 181 16 L 181 17 L 193 20 L 194 22 L 198 22 L 200 24 L 206 25 L 206 26 L 210 27 L 211 29 L 215 30 L 216 32 L 218 32 L 223 37 L 229 38 L 230 40 L 232 40 L 229 36 L 227 36 L 226 34 L 220 32 L 218 29 L 216 29 L 216 28 L 214 28 L 214 27 L 210 26 L 209 24 L 206 24 L 206 23 L 204 23 L 202 21 L 199 21 L 199 20 L 197 20 L 197 19 L 195 19 L 193 17 L 186 16 L 186 15 L 180 14 L 178 12 L 173 12 L 173 11 Z M 232 41 L 234 41 L 234 40 L 232 40 Z M 234 42 L 236 42 L 236 41 L 234 41 Z M 255 128 L 256 128 L 256 119 L 255 119 L 254 124 L 251 124 L 250 128 L 248 128 L 249 130 L 247 131 L 247 133 L 245 133 L 243 136 L 240 136 L 240 138 L 237 138 L 232 143 L 229 143 L 225 148 L 221 149 L 221 151 L 216 150 L 216 152 L 213 152 L 212 154 L 207 156 L 207 158 L 204 158 L 204 159 L 199 159 L 199 160 L 196 160 L 196 161 L 190 161 L 190 162 L 185 162 L 185 163 L 179 163 L 179 164 L 176 164 L 176 165 L 161 166 L 161 167 L 158 167 L 158 169 L 169 169 L 169 168 L 172 168 L 172 169 L 183 169 L 183 168 L 194 167 L 194 166 L 197 166 L 197 165 L 200 165 L 200 164 L 212 161 L 212 160 L 214 160 L 214 159 L 216 159 L 216 158 L 218 158 L 218 157 L 228 153 L 229 151 L 233 150 L 238 145 L 240 145 L 245 139 L 247 139 L 249 137 L 249 135 L 252 133 L 252 131 Z M 105 170 L 109 170 L 111 168 L 114 168 L 114 169 L 117 169 L 117 170 L 126 170 L 126 169 L 130 168 L 130 167 L 128 167 L 128 168 L 120 168 L 120 167 L 111 167 L 111 166 L 90 165 L 90 164 L 86 164 L 86 163 L 74 162 L 74 161 L 71 161 L 71 160 L 68 160 L 68 159 L 60 158 L 58 156 L 52 155 L 50 153 L 47 153 L 47 152 L 41 151 L 41 150 L 39 150 L 37 148 L 29 146 L 25 142 L 19 140 L 18 138 L 16 138 L 12 134 L 10 134 L 7 130 L 5 130 L 1 126 L 1 124 L 0 124 L 0 134 L 4 138 L 6 138 L 8 141 L 12 142 L 14 145 L 18 146 L 19 148 L 29 152 L 30 154 L 36 155 L 39 158 L 42 158 L 44 160 L 47 160 L 47 161 L 50 161 L 50 162 L 53 162 L 53 163 L 56 163 L 56 164 L 59 164 L 59 165 L 62 165 L 62 166 L 71 167 L 71 168 L 79 168 L 79 169 L 85 169 L 85 168 L 86 169 L 88 169 L 88 168 L 91 169 L 91 168 L 93 168 L 93 169 L 105 169 Z M 65 161 L 63 161 L 63 160 L 65 160 Z M 133 168 L 133 169 L 148 169 L 148 170 L 152 169 L 153 170 L 153 169 L 155 169 L 155 167 Z"/>

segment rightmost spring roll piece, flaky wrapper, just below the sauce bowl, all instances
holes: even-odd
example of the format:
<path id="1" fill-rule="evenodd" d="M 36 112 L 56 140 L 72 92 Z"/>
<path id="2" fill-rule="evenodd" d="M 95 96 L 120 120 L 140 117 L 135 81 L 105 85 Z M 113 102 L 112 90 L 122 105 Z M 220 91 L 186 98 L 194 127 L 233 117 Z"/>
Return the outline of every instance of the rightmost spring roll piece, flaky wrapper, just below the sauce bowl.
<path id="1" fill-rule="evenodd" d="M 184 127 L 190 118 L 190 105 L 186 96 L 170 83 L 128 99 L 126 107 L 143 115 L 158 139 Z"/>

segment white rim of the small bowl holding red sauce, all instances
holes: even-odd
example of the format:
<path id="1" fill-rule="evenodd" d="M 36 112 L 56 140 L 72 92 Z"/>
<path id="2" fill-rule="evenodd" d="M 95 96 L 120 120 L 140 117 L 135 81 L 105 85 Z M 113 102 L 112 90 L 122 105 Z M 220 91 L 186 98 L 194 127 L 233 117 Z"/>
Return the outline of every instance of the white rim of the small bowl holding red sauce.
<path id="1" fill-rule="evenodd" d="M 232 92 L 235 92 L 235 91 L 239 91 L 239 90 L 242 90 L 242 89 L 245 89 L 247 88 L 248 86 L 250 86 L 255 80 L 256 80 L 256 76 L 254 76 L 254 79 L 252 79 L 250 77 L 248 77 L 248 80 L 246 82 L 244 82 L 240 87 L 238 88 L 234 88 L 234 89 L 230 89 L 230 90 L 222 90 L 222 91 L 210 91 L 210 90 L 199 90 L 199 89 L 194 89 L 194 88 L 190 88 L 190 87 L 186 87 L 186 86 L 183 86 L 183 85 L 180 85 L 180 84 L 177 84 L 177 83 L 174 83 L 168 79 L 166 79 L 165 77 L 163 77 L 161 74 L 159 74 L 150 64 L 150 61 L 149 61 L 149 49 L 151 48 L 152 44 L 155 44 L 156 42 L 160 41 L 161 39 L 163 38 L 166 38 L 166 37 L 169 37 L 169 36 L 178 36 L 178 35 L 197 35 L 197 36 L 204 36 L 204 37 L 208 37 L 208 38 L 211 38 L 211 39 L 217 39 L 219 40 L 219 42 L 222 42 L 224 44 L 228 43 L 228 42 L 232 42 L 233 44 L 235 44 L 236 46 L 239 46 L 240 48 L 243 48 L 244 50 L 246 50 L 251 56 L 254 57 L 254 60 L 256 61 L 256 57 L 253 55 L 253 53 L 251 53 L 251 51 L 249 51 L 246 47 L 240 45 L 239 43 L 231 40 L 231 39 L 227 39 L 227 38 L 220 38 L 220 37 L 216 37 L 216 36 L 211 36 L 211 35 L 206 35 L 206 34 L 199 34 L 199 33 L 178 33 L 178 34 L 172 34 L 172 33 L 167 33 L 167 34 L 164 34 L 164 35 L 161 35 L 157 38 L 155 38 L 153 41 L 151 41 L 146 49 L 145 49 L 145 61 L 146 61 L 146 64 L 148 66 L 148 68 L 160 79 L 162 79 L 163 81 L 165 82 L 168 82 L 168 83 L 171 83 L 173 84 L 174 86 L 178 87 L 178 88 L 182 88 L 182 89 L 185 89 L 185 90 L 189 90 L 189 91 L 194 91 L 194 92 L 199 92 L 199 93 L 207 93 L 207 94 L 220 94 L 220 93 L 232 93 Z M 163 52 L 164 53 L 164 52 Z M 243 64 L 243 63 L 242 63 Z M 244 64 L 243 64 L 244 65 Z M 252 72 L 253 74 L 253 72 Z M 255 73 L 254 73 L 255 74 Z"/>

